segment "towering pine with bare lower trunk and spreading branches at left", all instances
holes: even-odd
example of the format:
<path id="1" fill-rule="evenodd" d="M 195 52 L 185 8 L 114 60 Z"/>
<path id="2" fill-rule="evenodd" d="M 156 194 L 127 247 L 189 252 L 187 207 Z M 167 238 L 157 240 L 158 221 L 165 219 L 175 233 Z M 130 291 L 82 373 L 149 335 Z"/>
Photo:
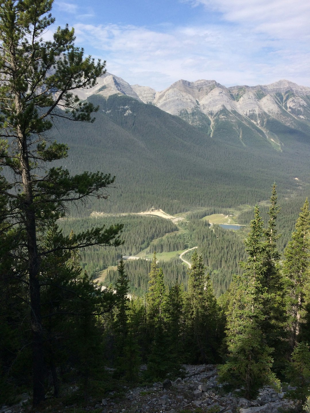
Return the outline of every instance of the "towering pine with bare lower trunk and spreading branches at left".
<path id="1" fill-rule="evenodd" d="M 74 47 L 74 31 L 58 28 L 52 40 L 43 34 L 54 23 L 52 0 L 6 0 L 0 3 L 0 166 L 12 177 L 1 185 L 7 197 L 7 219 L 22 234 L 13 253 L 23 263 L 29 285 L 32 348 L 33 405 L 45 399 L 43 323 L 40 274 L 46 230 L 66 214 L 68 204 L 85 197 L 105 199 L 114 178 L 103 173 L 70 176 L 66 169 L 49 162 L 67 157 L 67 145 L 49 141 L 53 119 L 92 121 L 96 108 L 74 95 L 79 88 L 95 85 L 105 62 L 83 57 Z M 119 244 L 121 227 L 92 229 L 76 235 L 61 249 L 99 244 Z M 73 242 L 74 241 L 74 242 Z M 74 246 L 74 244 L 76 244 Z"/>

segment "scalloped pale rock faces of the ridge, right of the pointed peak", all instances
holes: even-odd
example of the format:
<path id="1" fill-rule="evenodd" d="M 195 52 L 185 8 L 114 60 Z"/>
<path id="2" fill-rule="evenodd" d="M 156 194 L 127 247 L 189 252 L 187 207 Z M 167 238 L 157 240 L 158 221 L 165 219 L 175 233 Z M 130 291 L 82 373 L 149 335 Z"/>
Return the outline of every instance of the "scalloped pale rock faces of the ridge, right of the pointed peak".
<path id="1" fill-rule="evenodd" d="M 247 117 L 257 126 L 262 126 L 262 118 L 266 118 L 266 115 L 289 125 L 293 118 L 305 118 L 305 109 L 307 112 L 310 109 L 309 96 L 310 88 L 286 80 L 265 86 L 231 88 L 216 81 L 198 80 L 173 83 L 164 91 L 155 93 L 152 103 L 177 116 L 182 116 L 184 111 L 190 113 L 196 110 L 208 117 L 215 117 L 226 108 L 229 112 Z M 139 97 L 145 102 L 142 95 Z"/>

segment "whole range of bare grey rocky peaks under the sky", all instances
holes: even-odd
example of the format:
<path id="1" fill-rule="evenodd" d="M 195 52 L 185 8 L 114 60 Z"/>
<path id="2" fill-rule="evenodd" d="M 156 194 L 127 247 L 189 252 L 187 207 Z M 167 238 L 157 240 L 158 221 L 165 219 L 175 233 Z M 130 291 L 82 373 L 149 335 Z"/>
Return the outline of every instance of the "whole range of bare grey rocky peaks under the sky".
<path id="1" fill-rule="evenodd" d="M 274 149 L 282 150 L 283 128 L 290 133 L 310 135 L 310 88 L 280 80 L 270 85 L 232 86 L 226 88 L 215 80 L 188 82 L 179 80 L 157 92 L 147 86 L 129 85 L 122 78 L 106 73 L 97 85 L 79 92 L 81 99 L 91 95 L 133 97 L 179 116 L 201 128 L 211 137 L 229 129 L 227 141 L 239 140 L 249 145 L 249 135 L 267 140 Z M 222 136 L 223 137 L 223 136 Z"/>

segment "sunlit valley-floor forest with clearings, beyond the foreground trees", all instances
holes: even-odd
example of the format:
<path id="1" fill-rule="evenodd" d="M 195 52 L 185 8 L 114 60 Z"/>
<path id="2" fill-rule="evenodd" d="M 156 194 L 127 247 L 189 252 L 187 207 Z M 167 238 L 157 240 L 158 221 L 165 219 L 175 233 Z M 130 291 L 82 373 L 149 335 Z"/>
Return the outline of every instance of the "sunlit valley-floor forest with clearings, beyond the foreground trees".
<path id="1" fill-rule="evenodd" d="M 291 237 L 293 223 L 298 216 L 298 208 L 302 203 L 300 197 L 287 199 L 281 205 L 281 214 L 278 218 L 279 232 L 281 237 L 277 241 L 281 255 L 284 254 L 284 248 Z M 268 202 L 263 202 L 261 214 L 267 222 Z M 241 269 L 239 262 L 246 257 L 243 246 L 243 239 L 248 233 L 248 225 L 253 216 L 253 208 L 247 208 L 238 214 L 238 222 L 246 225 L 243 230 L 231 231 L 221 228 L 219 225 L 213 225 L 210 228 L 209 223 L 203 218 L 208 214 L 217 212 L 217 209 L 200 209 L 186 214 L 184 221 L 179 221 L 177 225 L 171 221 L 156 216 L 138 216 L 113 215 L 113 216 L 95 216 L 88 218 L 71 218 L 61 221 L 60 226 L 65 234 L 70 231 L 74 233 L 87 230 L 96 225 L 110 226 L 113 223 L 122 223 L 124 225 L 122 240 L 124 244 L 115 249 L 102 249 L 100 247 L 90 247 L 82 252 L 81 265 L 92 278 L 96 278 L 100 271 L 110 266 L 116 266 L 117 261 L 122 256 L 137 255 L 143 258 L 143 254 L 175 252 L 174 260 L 163 261 L 161 266 L 165 266 L 165 280 L 167 285 L 171 285 L 176 276 L 176 268 L 179 268 L 179 280 L 184 282 L 187 289 L 187 277 L 184 276 L 184 264 L 178 259 L 178 255 L 185 249 L 198 247 L 198 253 L 203 257 L 203 263 L 210 273 L 215 295 L 219 297 L 229 287 L 232 275 L 240 274 Z M 223 210 L 224 214 L 231 214 L 230 210 Z M 179 254 L 178 254 L 179 252 Z M 187 261 L 191 261 L 192 251 L 184 255 Z M 170 267 L 169 264 L 170 263 Z M 132 260 L 125 261 L 126 272 L 130 275 L 129 291 L 136 294 L 145 294 L 149 264 L 147 262 L 139 264 Z M 138 271 L 134 275 L 134 271 Z M 116 269 L 108 269 L 105 278 L 105 285 L 114 285 L 117 278 Z"/>

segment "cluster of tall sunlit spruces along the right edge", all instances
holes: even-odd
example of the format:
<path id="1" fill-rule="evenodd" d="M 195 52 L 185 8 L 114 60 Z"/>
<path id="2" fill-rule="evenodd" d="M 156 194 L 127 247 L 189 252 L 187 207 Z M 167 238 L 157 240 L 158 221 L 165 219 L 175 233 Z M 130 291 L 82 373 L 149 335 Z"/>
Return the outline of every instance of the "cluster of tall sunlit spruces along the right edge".
<path id="1" fill-rule="evenodd" d="M 296 389 L 290 394 L 301 402 L 309 396 L 310 385 L 308 199 L 284 251 L 283 263 L 277 248 L 279 211 L 274 185 L 267 225 L 264 227 L 256 205 L 245 240 L 243 272 L 234 276 L 226 294 L 227 356 L 219 378 L 233 388 L 242 386 L 247 398 L 255 397 L 266 384 L 280 389 L 280 379 L 284 379 L 294 383 Z"/>

